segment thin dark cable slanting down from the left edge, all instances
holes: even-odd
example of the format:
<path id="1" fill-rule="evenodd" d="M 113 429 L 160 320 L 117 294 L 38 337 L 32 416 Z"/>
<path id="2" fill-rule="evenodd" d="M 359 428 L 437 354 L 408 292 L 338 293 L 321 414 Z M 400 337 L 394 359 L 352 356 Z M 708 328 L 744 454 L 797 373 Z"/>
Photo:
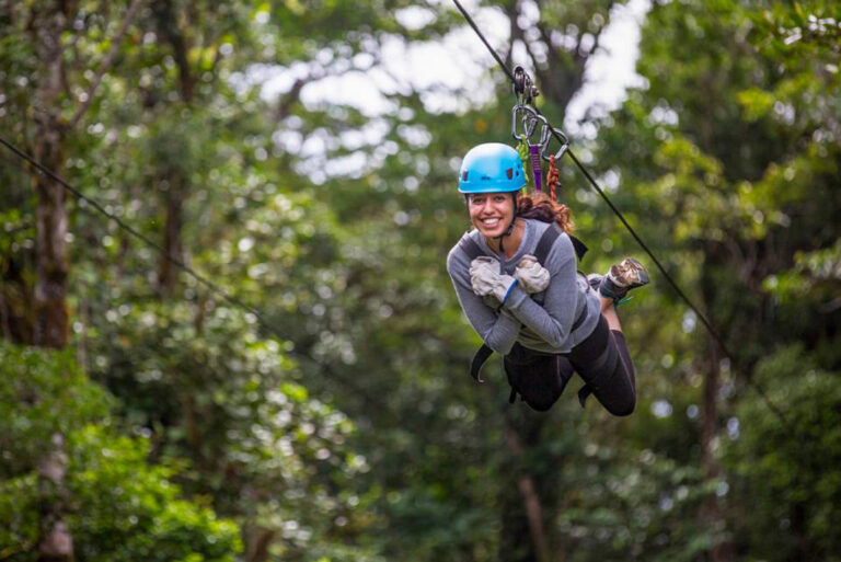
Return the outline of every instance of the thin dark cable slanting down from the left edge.
<path id="1" fill-rule="evenodd" d="M 244 310 L 245 312 L 249 312 L 254 316 L 254 318 L 257 320 L 257 323 L 260 323 L 264 329 L 268 330 L 272 334 L 277 336 L 281 341 L 288 341 L 288 335 L 284 333 L 283 330 L 280 330 L 278 326 L 276 326 L 274 323 L 268 321 L 257 309 L 255 309 L 252 306 L 249 306 L 247 303 L 243 302 L 239 298 L 232 296 L 218 285 L 216 285 L 214 282 L 208 279 L 207 277 L 196 273 L 195 269 L 189 267 L 187 264 L 185 264 L 182 260 L 178 260 L 177 257 L 171 255 L 166 250 L 151 240 L 149 237 L 145 236 L 142 232 L 138 232 L 135 228 L 133 228 L 130 225 L 127 225 L 124 220 L 122 220 L 119 217 L 114 215 L 113 213 L 108 211 L 105 207 L 103 207 L 99 202 L 92 199 L 91 197 L 88 197 L 82 192 L 70 185 L 66 180 L 64 180 L 61 176 L 56 174 L 53 170 L 48 169 L 34 158 L 32 158 L 30 154 L 14 146 L 12 142 L 0 136 L 0 145 L 3 145 L 5 148 L 8 148 L 10 151 L 12 151 L 15 156 L 21 158 L 22 160 L 28 162 L 32 167 L 34 167 L 38 172 L 45 174 L 47 177 L 53 180 L 54 182 L 58 183 L 61 187 L 67 190 L 69 193 L 71 193 L 74 197 L 77 197 L 79 200 L 84 202 L 87 205 L 90 205 L 93 207 L 96 211 L 101 213 L 108 219 L 113 220 L 120 229 L 125 230 L 133 237 L 137 238 L 145 244 L 147 244 L 149 248 L 158 252 L 161 256 L 163 256 L 166 261 L 188 274 L 191 277 L 196 279 L 200 285 L 205 286 L 208 290 L 211 293 L 222 297 L 224 300 L 227 300 L 229 303 L 233 305 L 237 308 L 240 308 L 241 310 Z M 337 375 L 329 365 L 323 364 L 316 359 L 313 359 L 309 355 L 302 354 L 300 352 L 292 351 L 286 351 L 288 355 L 292 355 L 296 357 L 303 358 L 306 360 L 309 360 L 313 363 L 315 366 L 320 367 L 324 370 L 327 375 L 333 377 L 334 379 L 338 380 L 339 383 L 345 385 L 347 388 L 353 390 L 355 393 L 357 393 L 359 397 L 361 397 L 366 402 L 370 402 L 371 404 L 378 404 L 378 400 L 375 399 L 367 390 L 362 389 L 361 387 L 357 386 L 355 382 L 352 382 L 350 380 Z"/>

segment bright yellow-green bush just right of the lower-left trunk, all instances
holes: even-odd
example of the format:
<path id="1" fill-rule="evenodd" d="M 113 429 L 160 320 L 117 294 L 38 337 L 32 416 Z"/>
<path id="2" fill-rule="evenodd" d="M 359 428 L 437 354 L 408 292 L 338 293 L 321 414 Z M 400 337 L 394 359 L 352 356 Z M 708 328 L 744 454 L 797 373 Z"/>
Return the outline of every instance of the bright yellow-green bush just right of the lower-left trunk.
<path id="1" fill-rule="evenodd" d="M 147 439 L 87 427 L 70 436 L 68 447 L 68 525 L 80 558 L 222 562 L 242 550 L 234 521 L 218 518 L 206 502 L 180 498 L 173 469 L 147 464 Z"/>

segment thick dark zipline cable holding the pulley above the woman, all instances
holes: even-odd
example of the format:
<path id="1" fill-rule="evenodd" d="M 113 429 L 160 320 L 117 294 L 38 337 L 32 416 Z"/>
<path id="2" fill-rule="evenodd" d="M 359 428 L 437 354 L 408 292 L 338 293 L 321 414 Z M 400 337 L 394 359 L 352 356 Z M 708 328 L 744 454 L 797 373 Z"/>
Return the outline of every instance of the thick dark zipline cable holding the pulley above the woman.
<path id="1" fill-rule="evenodd" d="M 461 5 L 461 2 L 459 0 L 452 0 L 452 2 L 456 4 L 456 8 L 459 9 L 461 14 L 464 16 L 466 22 L 470 24 L 471 27 L 473 27 L 473 31 L 476 32 L 476 35 L 479 35 L 479 38 L 482 39 L 482 43 L 484 43 L 485 47 L 487 47 L 487 50 L 491 51 L 491 55 L 496 59 L 496 62 L 499 65 L 499 67 L 503 69 L 503 71 L 508 76 L 508 79 L 517 85 L 517 81 L 514 77 L 514 72 L 507 67 L 507 65 L 503 61 L 502 57 L 496 53 L 496 50 L 491 46 L 491 44 L 485 38 L 482 31 L 479 28 L 479 25 L 473 21 L 473 18 L 471 18 L 470 13 L 464 9 L 463 5 Z M 540 110 L 534 107 L 534 111 L 538 113 L 538 115 L 542 114 L 540 113 Z M 545 118 L 545 117 L 544 117 Z M 552 126 L 551 123 L 546 119 L 546 125 L 549 126 L 549 130 L 552 131 L 552 136 L 555 137 L 555 139 L 561 142 L 562 145 L 566 142 L 566 139 L 561 138 L 561 136 L 557 133 L 557 129 Z M 575 165 L 580 170 L 580 172 L 587 177 L 592 188 L 598 193 L 601 198 L 604 200 L 604 203 L 608 204 L 608 206 L 611 208 L 611 210 L 617 215 L 619 220 L 624 225 L 624 227 L 627 229 L 627 231 L 631 233 L 631 236 L 636 240 L 636 243 L 640 244 L 640 246 L 645 251 L 646 254 L 648 254 L 648 257 L 652 259 L 654 264 L 657 266 L 657 268 L 660 271 L 663 276 L 666 278 L 666 280 L 671 285 L 671 287 L 675 289 L 675 291 L 678 294 L 678 296 L 683 300 L 683 302 L 687 303 L 687 306 L 695 313 L 695 316 L 701 320 L 701 323 L 704 324 L 707 332 L 710 332 L 710 335 L 713 337 L 713 340 L 718 344 L 718 347 L 722 349 L 722 353 L 725 357 L 731 358 L 734 355 L 729 352 L 727 348 L 727 345 L 724 343 L 724 340 L 718 335 L 718 332 L 713 328 L 713 324 L 707 320 L 706 316 L 699 310 L 699 308 L 692 302 L 692 300 L 683 293 L 683 290 L 680 288 L 678 283 L 672 278 L 672 276 L 666 271 L 666 268 L 663 266 L 660 261 L 657 259 L 657 256 L 654 255 L 654 252 L 648 248 L 648 245 L 643 241 L 643 239 L 636 233 L 636 231 L 631 227 L 631 225 L 625 220 L 624 215 L 622 211 L 617 208 L 615 205 L 613 205 L 613 202 L 610 200 L 610 197 L 604 193 L 604 191 L 599 187 L 599 184 L 596 182 L 596 180 L 592 177 L 592 175 L 589 173 L 589 171 L 581 164 L 581 162 L 576 158 L 576 156 L 573 153 L 573 150 L 567 148 L 564 154 L 568 154 L 569 158 L 573 160 Z M 774 404 L 771 399 L 768 397 L 765 390 L 753 380 L 752 377 L 747 377 L 748 385 L 753 387 L 753 389 L 759 393 L 760 397 L 764 400 L 764 402 L 768 404 L 768 408 L 784 423 L 787 423 L 787 420 L 785 418 L 785 415 L 783 412 Z"/>

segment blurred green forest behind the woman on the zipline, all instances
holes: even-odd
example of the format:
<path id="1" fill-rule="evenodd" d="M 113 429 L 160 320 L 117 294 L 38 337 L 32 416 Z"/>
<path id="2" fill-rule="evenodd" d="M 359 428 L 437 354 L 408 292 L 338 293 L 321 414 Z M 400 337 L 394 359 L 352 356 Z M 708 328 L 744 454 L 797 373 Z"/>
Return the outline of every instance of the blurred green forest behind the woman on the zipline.
<path id="1" fill-rule="evenodd" d="M 468 5 L 560 124 L 621 4 Z M 565 159 L 581 267 L 654 277 L 612 418 L 466 374 L 456 173 L 514 98 L 477 39 L 406 78 L 449 2 L 0 1 L 0 137 L 100 205 L 0 147 L 0 560 L 841 560 L 840 21 L 654 2 L 567 122 L 727 347 Z"/>

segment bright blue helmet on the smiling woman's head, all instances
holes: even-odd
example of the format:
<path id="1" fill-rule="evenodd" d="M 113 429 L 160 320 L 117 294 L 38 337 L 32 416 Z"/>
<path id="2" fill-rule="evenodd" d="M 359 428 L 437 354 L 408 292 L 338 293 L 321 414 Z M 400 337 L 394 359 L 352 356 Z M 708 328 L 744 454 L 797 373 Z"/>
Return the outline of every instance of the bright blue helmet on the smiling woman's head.
<path id="1" fill-rule="evenodd" d="M 470 149 L 461 162 L 459 193 L 518 192 L 523 185 L 522 160 L 508 145 L 479 145 Z"/>

